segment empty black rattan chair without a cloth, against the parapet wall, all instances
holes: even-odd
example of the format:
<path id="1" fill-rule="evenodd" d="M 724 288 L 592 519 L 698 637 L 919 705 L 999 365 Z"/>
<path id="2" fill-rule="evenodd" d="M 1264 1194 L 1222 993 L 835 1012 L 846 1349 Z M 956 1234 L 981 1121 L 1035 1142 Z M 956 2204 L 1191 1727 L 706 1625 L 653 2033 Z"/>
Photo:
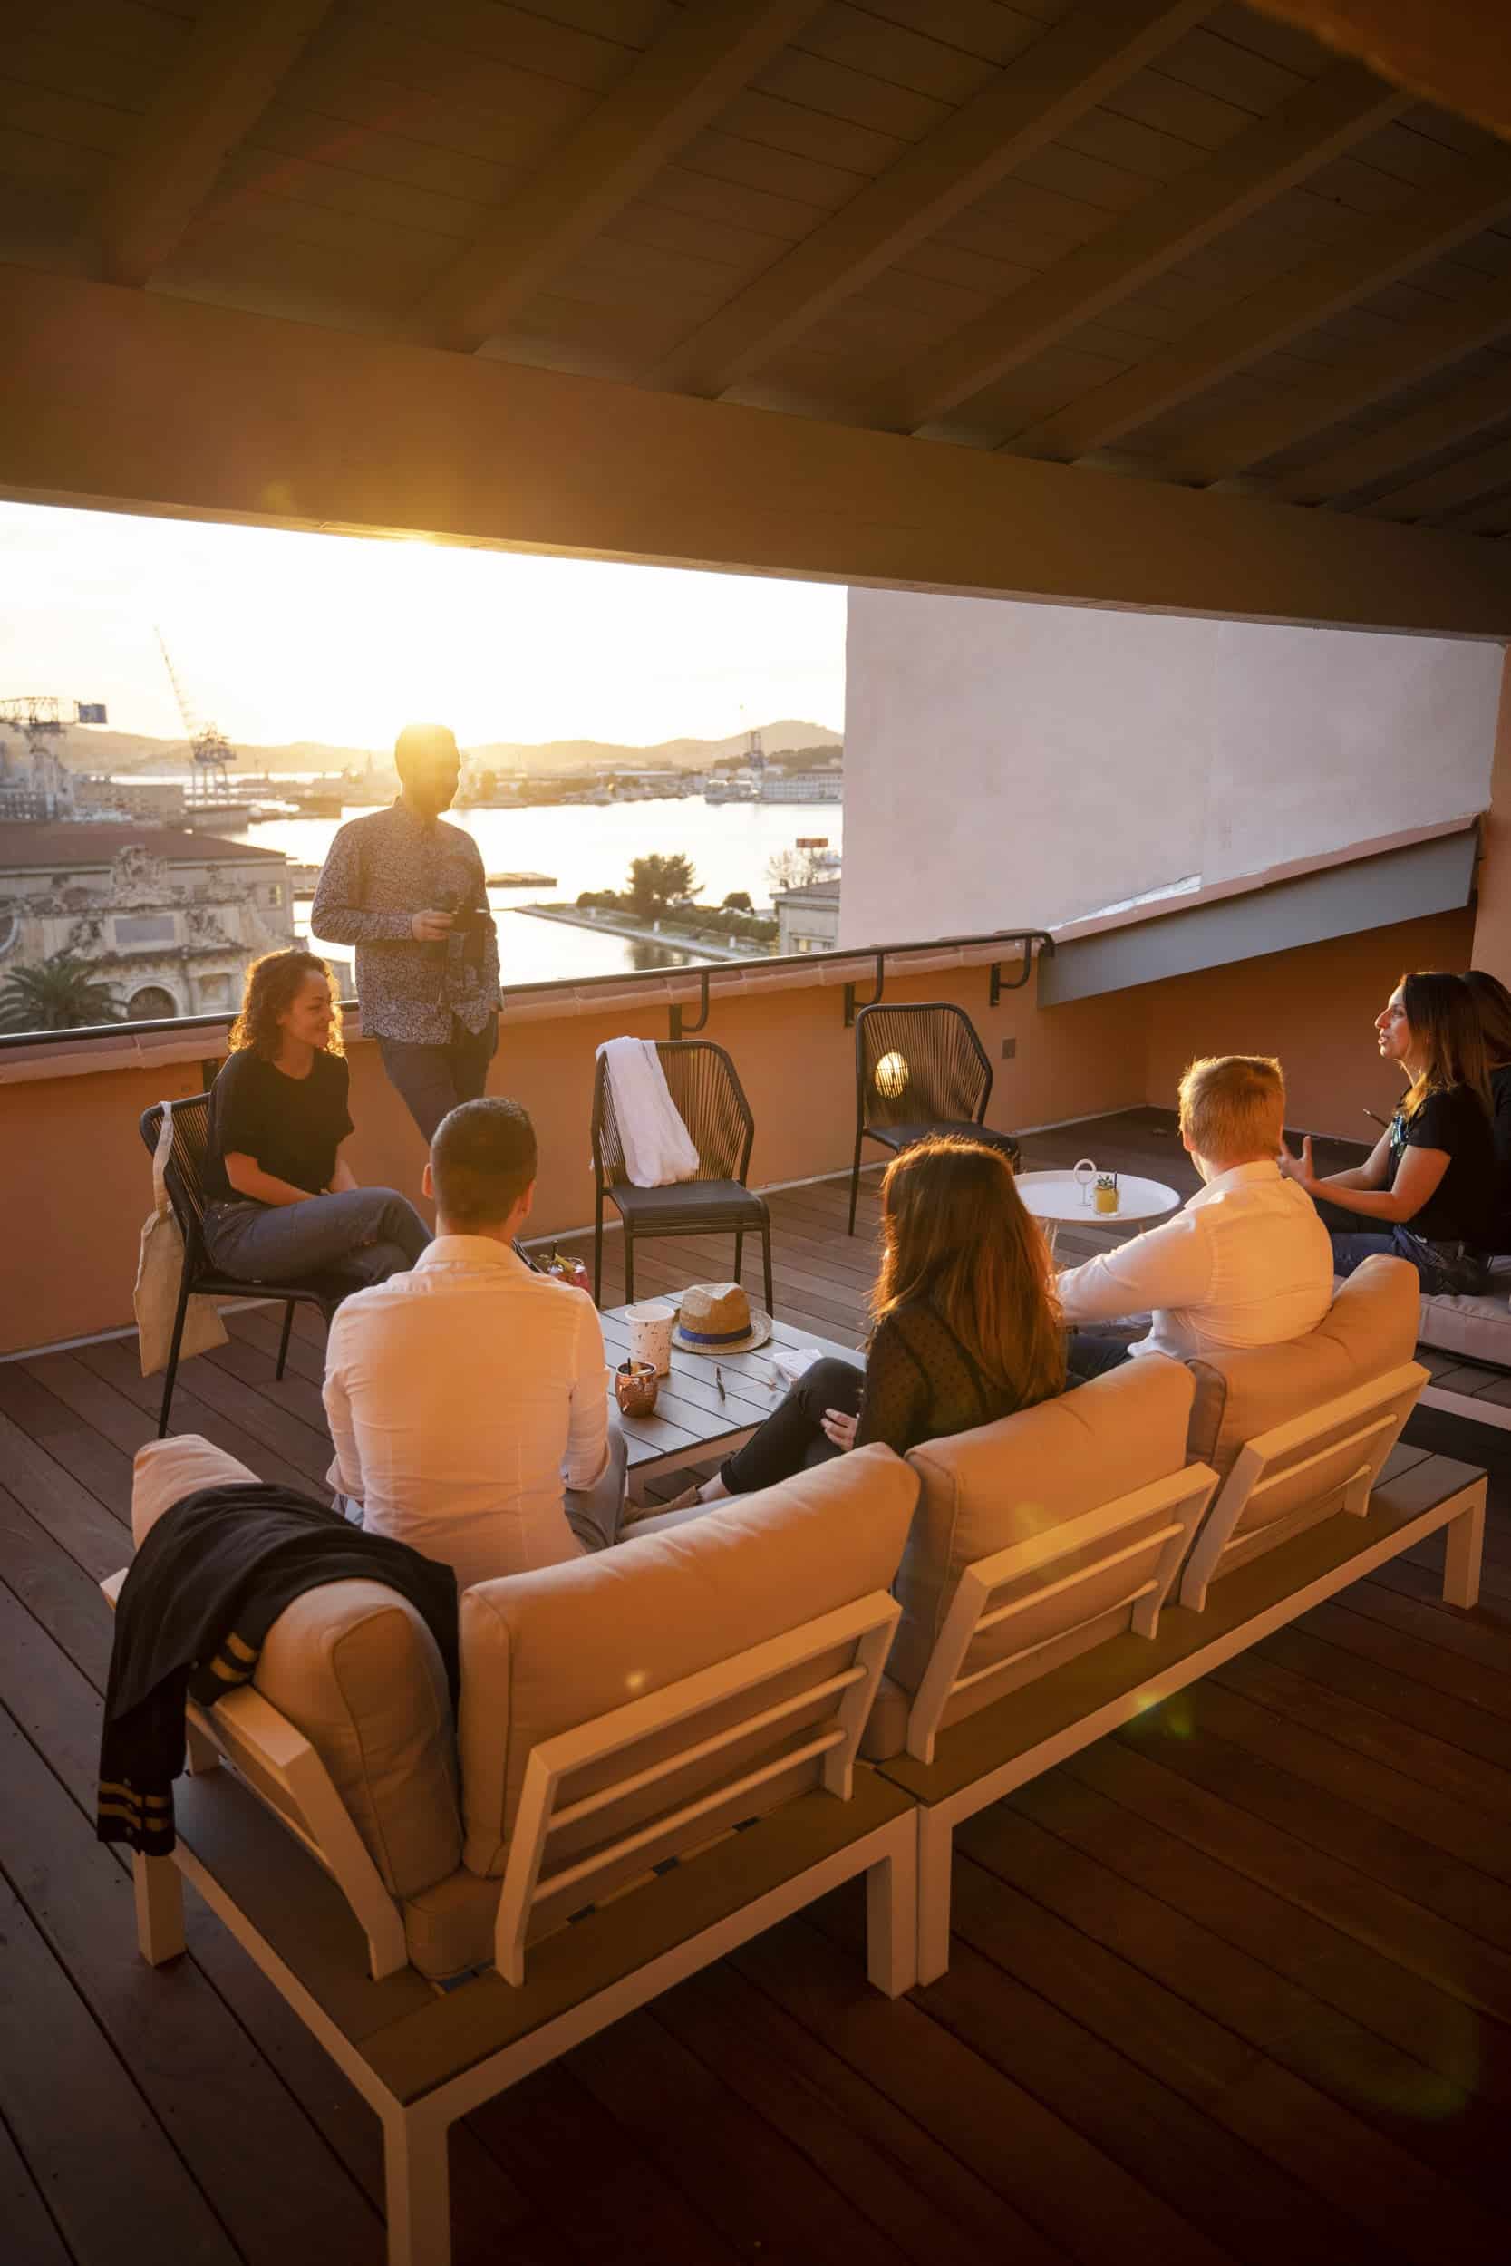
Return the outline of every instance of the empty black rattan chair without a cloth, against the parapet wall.
<path id="1" fill-rule="evenodd" d="M 850 1172 L 850 1233 L 861 1192 L 861 1142 L 893 1153 L 929 1133 L 965 1133 L 1013 1158 L 1017 1142 L 981 1119 L 992 1099 L 992 1065 L 965 1008 L 949 999 L 920 1006 L 863 1006 L 856 1015 L 856 1153 Z"/>

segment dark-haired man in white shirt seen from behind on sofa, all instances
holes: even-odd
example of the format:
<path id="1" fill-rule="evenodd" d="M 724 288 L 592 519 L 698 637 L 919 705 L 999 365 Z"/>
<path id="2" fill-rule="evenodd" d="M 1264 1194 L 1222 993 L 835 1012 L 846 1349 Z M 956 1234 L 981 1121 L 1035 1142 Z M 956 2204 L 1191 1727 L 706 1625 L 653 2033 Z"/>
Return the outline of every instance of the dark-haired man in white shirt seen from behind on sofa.
<path id="1" fill-rule="evenodd" d="M 535 1196 L 517 1101 L 464 1101 L 426 1165 L 424 1264 L 347 1298 L 326 1344 L 331 1482 L 362 1525 L 455 1568 L 458 1588 L 618 1539 L 625 1446 L 582 1289 L 512 1251 Z"/>

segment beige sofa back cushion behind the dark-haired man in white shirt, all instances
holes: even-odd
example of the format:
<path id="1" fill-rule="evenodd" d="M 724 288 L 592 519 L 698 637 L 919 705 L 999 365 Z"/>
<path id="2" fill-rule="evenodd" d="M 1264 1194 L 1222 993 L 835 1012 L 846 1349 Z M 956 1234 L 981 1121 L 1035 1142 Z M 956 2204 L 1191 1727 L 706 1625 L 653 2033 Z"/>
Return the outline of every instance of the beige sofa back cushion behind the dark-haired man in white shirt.
<path id="1" fill-rule="evenodd" d="M 782 1486 L 718 1502 L 673 1532 L 630 1534 L 596 1557 L 473 1584 L 462 1595 L 464 1863 L 478 1874 L 503 1872 L 526 1763 L 541 1740 L 890 1588 L 915 1502 L 917 1475 L 899 1457 L 859 1448 Z M 811 1679 L 804 1670 L 804 1681 Z M 822 1702 L 818 1713 L 829 1709 Z M 732 1720 L 743 1713 L 748 1706 L 739 1704 Z M 707 1795 L 757 1754 L 775 1758 L 802 1740 L 811 1720 L 788 1718 L 659 1781 L 639 1806 L 616 1801 L 607 1815 L 564 1829 L 550 1865 L 659 1815 L 673 1799 Z M 664 1743 L 659 1749 L 643 1743 L 637 1767 L 657 1752 Z M 775 1777 L 759 1799 L 743 1795 L 743 1806 L 723 1822 L 786 1799 L 816 1777 L 813 1761 L 795 1765 L 793 1777 Z M 700 1820 L 707 1831 L 718 1824 L 718 1813 Z M 643 1869 L 684 1845 L 675 1835 L 666 1847 L 650 1845 L 637 1865 Z M 603 1890 L 596 1883 L 578 1903 Z"/>

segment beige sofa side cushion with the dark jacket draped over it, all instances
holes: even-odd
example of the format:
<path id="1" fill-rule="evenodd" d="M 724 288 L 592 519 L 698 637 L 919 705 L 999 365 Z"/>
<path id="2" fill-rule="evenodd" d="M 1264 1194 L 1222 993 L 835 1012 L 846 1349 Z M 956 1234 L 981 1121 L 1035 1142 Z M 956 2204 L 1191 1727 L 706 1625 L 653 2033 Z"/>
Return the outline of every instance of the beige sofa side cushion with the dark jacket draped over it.
<path id="1" fill-rule="evenodd" d="M 256 1484 L 256 1473 L 208 1439 L 150 1441 L 136 1455 L 136 1541 L 183 1496 L 233 1482 Z M 408 1598 L 381 1582 L 306 1591 L 274 1620 L 251 1681 L 315 1747 L 394 1897 L 458 1867 L 446 1670 Z"/>

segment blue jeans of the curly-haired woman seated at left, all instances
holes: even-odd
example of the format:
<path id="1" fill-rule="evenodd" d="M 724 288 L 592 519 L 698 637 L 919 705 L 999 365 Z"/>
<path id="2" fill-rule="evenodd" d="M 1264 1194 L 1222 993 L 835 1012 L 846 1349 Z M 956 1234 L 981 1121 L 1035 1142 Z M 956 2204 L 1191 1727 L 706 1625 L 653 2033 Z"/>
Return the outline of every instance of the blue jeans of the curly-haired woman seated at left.
<path id="1" fill-rule="evenodd" d="M 211 1203 L 204 1249 L 236 1283 L 301 1283 L 335 1276 L 338 1296 L 412 1267 L 430 1230 L 392 1187 L 344 1187 L 306 1203 Z"/>

